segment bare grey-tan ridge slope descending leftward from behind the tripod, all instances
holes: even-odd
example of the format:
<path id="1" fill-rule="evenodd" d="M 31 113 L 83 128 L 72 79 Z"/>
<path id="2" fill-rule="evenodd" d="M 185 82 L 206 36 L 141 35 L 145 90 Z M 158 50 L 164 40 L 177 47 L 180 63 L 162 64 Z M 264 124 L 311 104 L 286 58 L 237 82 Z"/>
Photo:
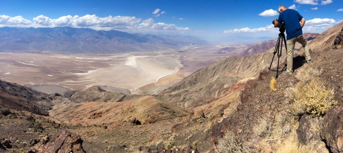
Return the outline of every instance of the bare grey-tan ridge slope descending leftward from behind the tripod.
<path id="1" fill-rule="evenodd" d="M 180 83 L 164 90 L 158 97 L 180 107 L 193 108 L 213 102 L 242 79 L 258 77 L 270 66 L 274 49 L 249 57 L 229 57 L 196 71 Z M 276 57 L 276 56 L 275 56 Z M 281 61 L 285 58 L 282 56 Z M 273 66 L 277 65 L 276 58 Z"/>

